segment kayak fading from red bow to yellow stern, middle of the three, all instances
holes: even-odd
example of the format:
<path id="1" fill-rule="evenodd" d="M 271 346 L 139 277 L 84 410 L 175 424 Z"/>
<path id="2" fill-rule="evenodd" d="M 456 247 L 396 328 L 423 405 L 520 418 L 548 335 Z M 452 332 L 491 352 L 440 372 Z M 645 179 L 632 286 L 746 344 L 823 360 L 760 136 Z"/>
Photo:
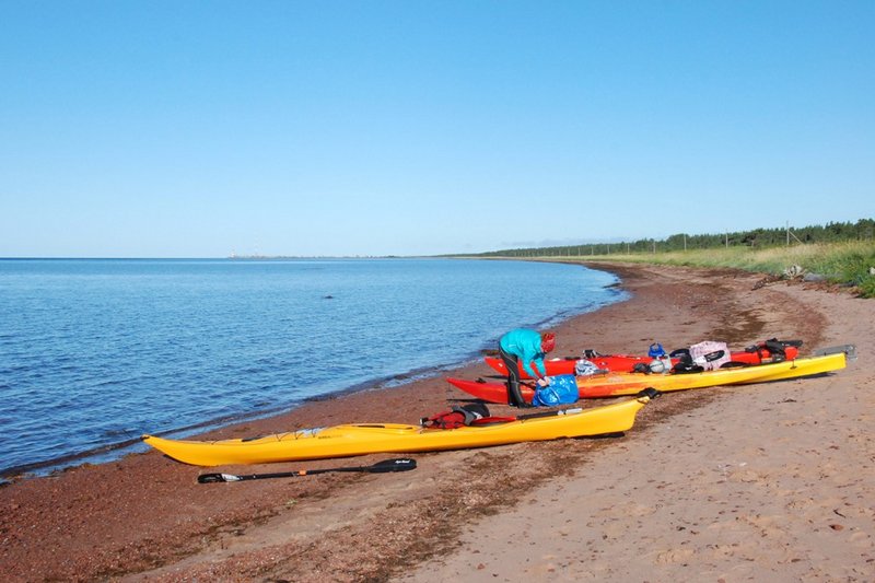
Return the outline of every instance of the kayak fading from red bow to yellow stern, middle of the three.
<path id="1" fill-rule="evenodd" d="M 720 385 L 768 383 L 784 378 L 810 376 L 837 371 L 845 366 L 845 354 L 839 352 L 822 357 L 805 357 L 771 364 L 756 364 L 732 369 L 718 369 L 687 374 L 644 374 L 609 373 L 605 375 L 579 376 L 579 398 L 617 397 L 635 395 L 646 387 L 662 393 L 687 390 Z M 508 403 L 508 388 L 504 383 L 447 378 L 455 387 L 489 403 Z M 532 403 L 535 392 L 530 386 L 521 385 L 523 398 Z"/>

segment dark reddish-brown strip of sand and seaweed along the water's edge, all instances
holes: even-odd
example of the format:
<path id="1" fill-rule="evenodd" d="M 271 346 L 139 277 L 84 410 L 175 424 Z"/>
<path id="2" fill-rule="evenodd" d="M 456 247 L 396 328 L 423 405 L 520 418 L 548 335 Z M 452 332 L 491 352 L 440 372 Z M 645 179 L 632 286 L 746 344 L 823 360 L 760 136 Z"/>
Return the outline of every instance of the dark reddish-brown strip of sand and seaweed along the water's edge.
<path id="1" fill-rule="evenodd" d="M 845 310 L 844 304 L 854 301 L 783 283 L 755 291 L 757 276 L 726 270 L 584 265 L 618 275 L 621 287 L 632 296 L 555 327 L 557 352 L 584 348 L 645 351 L 652 341 L 688 346 L 703 339 L 747 346 L 777 336 L 802 337 L 807 353 L 833 339 L 830 325 L 835 316 L 829 306 L 818 312 L 788 302 L 788 294 L 843 302 Z M 861 325 L 871 322 L 872 308 L 863 304 L 854 308 L 863 310 Z M 864 338 L 838 340 L 829 343 L 860 345 Z M 864 353 L 868 350 L 861 350 L 861 360 Z M 852 378 L 853 372 L 851 365 L 828 378 L 843 382 Z M 480 362 L 453 374 L 476 377 L 491 374 L 491 369 Z M 792 386 L 821 382 L 803 380 Z M 871 380 L 855 382 L 872 384 Z M 791 384 L 773 384 L 779 388 L 782 385 Z M 212 431 L 208 436 L 246 436 L 342 422 L 409 423 L 460 400 L 463 395 L 439 375 L 388 390 L 307 403 L 289 413 Z M 450 557 L 453 550 L 462 564 L 476 567 L 488 557 L 500 556 L 500 547 L 483 547 L 476 552 L 469 548 L 466 555 L 464 535 L 474 524 L 489 525 L 492 517 L 517 510 L 549 515 L 544 508 L 526 502 L 529 492 L 564 483 L 600 459 L 612 460 L 603 470 L 603 478 L 608 479 L 626 471 L 626 442 L 645 439 L 662 425 L 674 424 L 673 419 L 695 418 L 699 411 L 709 410 L 709 404 L 732 408 L 743 401 L 728 390 L 670 394 L 648 406 L 623 438 L 420 454 L 416 456 L 418 469 L 409 475 L 329 474 L 210 486 L 196 482 L 206 468 L 177 464 L 156 452 L 131 454 L 118 462 L 0 488 L 0 569 L 15 573 L 21 581 L 179 581 L 208 576 L 387 581 L 405 572 L 416 579 L 416 573 L 422 573 L 417 567 L 435 557 Z M 505 411 L 513 409 L 497 406 L 493 415 Z M 707 452 L 711 445 L 697 446 Z M 219 470 L 329 468 L 368 465 L 385 457 Z M 648 469 L 646 464 L 646 459 L 639 464 L 640 471 L 660 471 L 658 466 Z M 552 510 L 561 513 L 561 506 Z M 501 544 L 506 547 L 506 541 Z M 474 570 L 483 581 L 494 581 L 489 569 Z"/>

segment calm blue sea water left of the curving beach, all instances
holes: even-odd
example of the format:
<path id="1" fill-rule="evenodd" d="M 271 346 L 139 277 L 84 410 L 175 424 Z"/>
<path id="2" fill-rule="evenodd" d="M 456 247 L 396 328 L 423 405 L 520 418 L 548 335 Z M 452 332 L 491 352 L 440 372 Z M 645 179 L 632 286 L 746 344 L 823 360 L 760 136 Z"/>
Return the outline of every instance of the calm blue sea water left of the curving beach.
<path id="1" fill-rule="evenodd" d="M 0 476 L 433 374 L 619 301 L 616 281 L 525 261 L 0 259 Z"/>

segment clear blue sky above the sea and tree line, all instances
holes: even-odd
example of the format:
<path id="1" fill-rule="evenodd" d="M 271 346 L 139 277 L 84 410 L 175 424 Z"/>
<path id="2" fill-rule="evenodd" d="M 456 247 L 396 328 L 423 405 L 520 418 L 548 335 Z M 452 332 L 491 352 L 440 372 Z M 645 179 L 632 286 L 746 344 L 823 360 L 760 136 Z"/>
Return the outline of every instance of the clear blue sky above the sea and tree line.
<path id="1" fill-rule="evenodd" d="M 0 257 L 875 217 L 873 1 L 0 0 Z"/>

